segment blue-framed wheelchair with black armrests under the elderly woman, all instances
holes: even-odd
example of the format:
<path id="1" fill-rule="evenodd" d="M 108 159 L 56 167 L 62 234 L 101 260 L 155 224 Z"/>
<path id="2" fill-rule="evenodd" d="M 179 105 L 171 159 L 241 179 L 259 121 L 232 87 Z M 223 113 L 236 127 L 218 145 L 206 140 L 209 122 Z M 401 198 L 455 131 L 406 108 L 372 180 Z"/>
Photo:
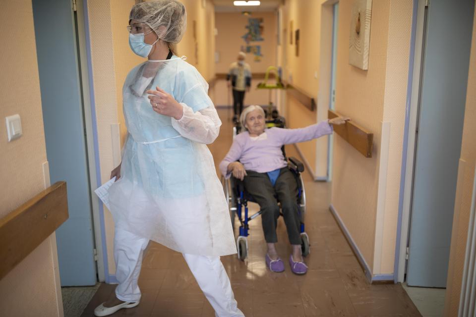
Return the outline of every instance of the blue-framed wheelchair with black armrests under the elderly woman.
<path id="1" fill-rule="evenodd" d="M 266 127 L 286 128 L 285 119 L 280 117 L 273 111 L 272 118 L 266 120 Z M 241 130 L 239 122 L 233 128 L 233 137 L 235 137 Z M 300 219 L 300 236 L 301 236 L 301 251 L 302 256 L 307 256 L 310 253 L 309 237 L 305 232 L 304 214 L 306 209 L 306 194 L 304 189 L 304 181 L 301 173 L 304 171 L 304 165 L 301 161 L 294 157 L 287 158 L 284 146 L 281 148 L 285 159 L 288 161 L 288 168 L 293 172 L 297 182 L 297 197 L 296 203 L 298 206 Z M 249 225 L 248 222 L 259 216 L 263 211 L 257 211 L 253 215 L 248 214 L 248 202 L 254 202 L 252 193 L 246 191 L 241 180 L 233 177 L 225 179 L 222 176 L 222 185 L 225 192 L 225 197 L 228 202 L 230 218 L 232 221 L 233 231 L 235 231 L 235 217 L 238 217 L 240 226 L 237 238 L 238 259 L 244 261 L 248 257 L 248 240 Z M 244 212 L 243 212 L 244 211 Z M 283 213 L 280 211 L 280 215 Z"/>

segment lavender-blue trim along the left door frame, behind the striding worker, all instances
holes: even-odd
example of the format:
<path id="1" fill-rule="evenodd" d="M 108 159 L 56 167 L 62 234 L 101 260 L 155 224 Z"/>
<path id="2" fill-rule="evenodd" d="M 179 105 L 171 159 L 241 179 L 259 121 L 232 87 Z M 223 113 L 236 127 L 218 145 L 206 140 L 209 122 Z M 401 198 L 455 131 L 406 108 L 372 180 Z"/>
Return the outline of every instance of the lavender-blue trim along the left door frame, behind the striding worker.
<path id="1" fill-rule="evenodd" d="M 84 9 L 84 31 L 86 37 L 86 55 L 88 62 L 88 74 L 89 74 L 89 96 L 91 104 L 91 121 L 93 126 L 93 140 L 94 140 L 94 157 L 96 161 L 96 185 L 101 186 L 101 165 L 99 161 L 99 143 L 98 143 L 98 129 L 97 129 L 97 118 L 96 118 L 96 102 L 94 98 L 94 81 L 93 81 L 93 66 L 91 62 L 91 39 L 89 38 L 89 15 L 88 15 L 88 0 L 83 2 Z M 95 196 L 93 194 L 93 196 Z M 94 198 L 93 198 L 94 199 Z M 111 276 L 109 275 L 109 265 L 108 265 L 108 250 L 106 244 L 106 228 L 104 223 L 104 208 L 101 200 L 96 196 L 96 199 L 99 200 L 99 222 L 101 226 L 101 242 L 103 246 L 103 264 L 104 264 L 104 276 L 106 278 L 106 283 L 112 283 Z M 116 277 L 114 276 L 116 281 Z"/>

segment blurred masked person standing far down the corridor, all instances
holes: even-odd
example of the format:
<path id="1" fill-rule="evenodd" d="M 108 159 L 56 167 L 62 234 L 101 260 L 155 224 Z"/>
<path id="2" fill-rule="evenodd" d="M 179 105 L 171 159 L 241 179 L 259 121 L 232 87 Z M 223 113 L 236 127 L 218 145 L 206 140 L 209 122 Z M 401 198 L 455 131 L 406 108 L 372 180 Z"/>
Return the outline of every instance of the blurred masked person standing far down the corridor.
<path id="1" fill-rule="evenodd" d="M 230 64 L 227 74 L 227 86 L 233 91 L 233 120 L 238 121 L 238 117 L 243 111 L 244 93 L 249 92 L 251 87 L 251 68 L 244 61 L 246 54 L 239 52 L 237 61 Z"/>

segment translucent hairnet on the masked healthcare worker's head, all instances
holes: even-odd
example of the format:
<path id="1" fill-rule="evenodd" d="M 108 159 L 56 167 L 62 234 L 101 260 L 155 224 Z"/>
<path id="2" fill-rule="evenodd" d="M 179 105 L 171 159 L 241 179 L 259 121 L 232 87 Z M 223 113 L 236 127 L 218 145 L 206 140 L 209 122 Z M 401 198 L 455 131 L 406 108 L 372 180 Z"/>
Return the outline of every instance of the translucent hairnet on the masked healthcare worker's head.
<path id="1" fill-rule="evenodd" d="M 129 20 L 145 23 L 165 42 L 177 44 L 187 28 L 187 12 L 178 0 L 140 2 L 130 10 Z"/>

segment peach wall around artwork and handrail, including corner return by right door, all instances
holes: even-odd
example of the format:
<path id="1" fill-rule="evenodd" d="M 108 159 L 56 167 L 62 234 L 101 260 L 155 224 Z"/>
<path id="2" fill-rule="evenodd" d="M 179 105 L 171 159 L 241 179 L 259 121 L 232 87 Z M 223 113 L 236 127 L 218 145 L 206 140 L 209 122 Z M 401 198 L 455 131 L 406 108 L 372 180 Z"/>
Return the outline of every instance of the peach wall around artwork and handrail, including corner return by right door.
<path id="1" fill-rule="evenodd" d="M 374 150 L 372 158 L 366 159 L 342 138 L 334 137 L 331 202 L 372 273 L 391 274 L 395 260 L 412 1 L 372 1 L 366 71 L 349 64 L 351 8 L 351 1 L 340 1 L 336 111 L 373 133 Z M 390 125 L 388 140 L 382 140 L 384 122 Z M 380 149 L 384 145 L 389 148 L 388 159 L 386 155 L 381 157 Z M 379 206 L 378 199 L 382 201 Z"/>

